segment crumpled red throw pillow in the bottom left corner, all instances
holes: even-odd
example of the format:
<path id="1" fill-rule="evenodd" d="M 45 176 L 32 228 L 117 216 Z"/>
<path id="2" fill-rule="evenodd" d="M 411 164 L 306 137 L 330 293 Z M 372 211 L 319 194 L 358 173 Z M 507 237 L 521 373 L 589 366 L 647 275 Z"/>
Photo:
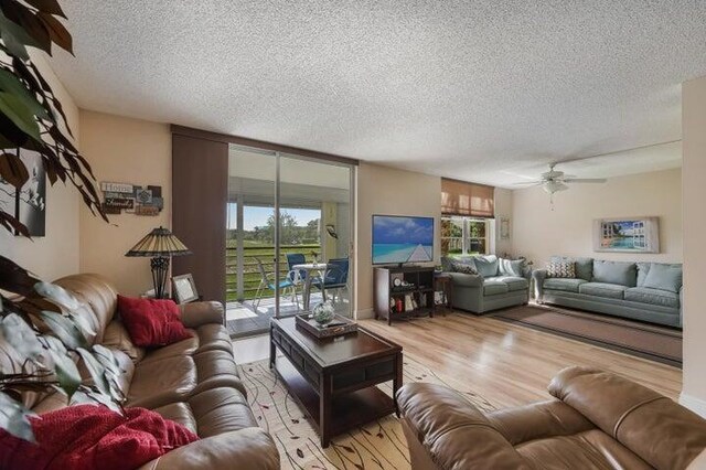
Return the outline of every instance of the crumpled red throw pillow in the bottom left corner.
<path id="1" fill-rule="evenodd" d="M 125 416 L 76 405 L 30 418 L 36 444 L 0 430 L 0 468 L 132 470 L 199 440 L 184 426 L 145 408 Z"/>

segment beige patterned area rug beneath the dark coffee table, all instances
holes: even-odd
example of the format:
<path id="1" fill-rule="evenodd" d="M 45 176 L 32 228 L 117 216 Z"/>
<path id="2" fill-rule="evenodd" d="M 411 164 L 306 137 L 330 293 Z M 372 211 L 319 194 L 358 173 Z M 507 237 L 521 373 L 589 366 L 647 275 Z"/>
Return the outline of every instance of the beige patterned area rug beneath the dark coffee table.
<path id="1" fill-rule="evenodd" d="M 402 425 L 389 415 L 347 434 L 334 437 L 322 449 L 317 431 L 311 427 L 282 383 L 269 370 L 268 361 L 238 366 L 247 387 L 255 417 L 275 439 L 282 469 L 409 469 L 409 455 Z M 404 382 L 429 382 L 457 389 L 480 409 L 494 406 L 453 378 L 442 378 L 417 361 L 405 355 Z M 379 385 L 392 396 L 392 383 Z"/>

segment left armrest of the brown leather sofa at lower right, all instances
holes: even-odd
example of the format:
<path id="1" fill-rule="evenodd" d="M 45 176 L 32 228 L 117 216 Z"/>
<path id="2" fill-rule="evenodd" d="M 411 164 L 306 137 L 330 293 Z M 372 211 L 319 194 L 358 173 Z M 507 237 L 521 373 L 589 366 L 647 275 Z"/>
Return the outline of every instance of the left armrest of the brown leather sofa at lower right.
<path id="1" fill-rule="evenodd" d="M 410 448 L 428 455 L 424 461 L 442 469 L 530 469 L 483 413 L 450 388 L 406 384 L 397 392 L 397 406 L 407 439 L 415 439 Z"/>

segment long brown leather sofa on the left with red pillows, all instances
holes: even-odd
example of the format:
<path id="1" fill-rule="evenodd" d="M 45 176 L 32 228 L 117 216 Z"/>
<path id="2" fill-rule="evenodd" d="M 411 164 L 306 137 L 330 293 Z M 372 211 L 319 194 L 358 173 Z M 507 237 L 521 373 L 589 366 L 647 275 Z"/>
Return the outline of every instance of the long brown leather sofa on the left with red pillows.
<path id="1" fill-rule="evenodd" d="M 238 377 L 231 339 L 223 325 L 222 305 L 183 306 L 182 321 L 193 338 L 146 350 L 132 344 L 117 318 L 117 291 L 107 280 L 96 275 L 76 275 L 55 284 L 84 302 L 79 314 L 96 332 L 90 342 L 115 352 L 124 370 L 126 405 L 153 409 L 201 438 L 146 463 L 141 470 L 279 469 L 275 442 L 254 418 Z M 19 361 L 0 339 L 3 368 L 19 367 Z M 60 394 L 25 393 L 23 398 L 39 414 L 66 406 Z"/>

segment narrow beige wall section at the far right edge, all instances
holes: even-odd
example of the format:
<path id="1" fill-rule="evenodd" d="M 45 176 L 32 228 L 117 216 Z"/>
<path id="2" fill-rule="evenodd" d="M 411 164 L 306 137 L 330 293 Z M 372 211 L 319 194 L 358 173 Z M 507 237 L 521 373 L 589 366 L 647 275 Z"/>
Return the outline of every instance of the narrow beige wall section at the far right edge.
<path id="1" fill-rule="evenodd" d="M 706 77 L 682 86 L 684 167 L 684 387 L 682 403 L 706 417 Z"/>

